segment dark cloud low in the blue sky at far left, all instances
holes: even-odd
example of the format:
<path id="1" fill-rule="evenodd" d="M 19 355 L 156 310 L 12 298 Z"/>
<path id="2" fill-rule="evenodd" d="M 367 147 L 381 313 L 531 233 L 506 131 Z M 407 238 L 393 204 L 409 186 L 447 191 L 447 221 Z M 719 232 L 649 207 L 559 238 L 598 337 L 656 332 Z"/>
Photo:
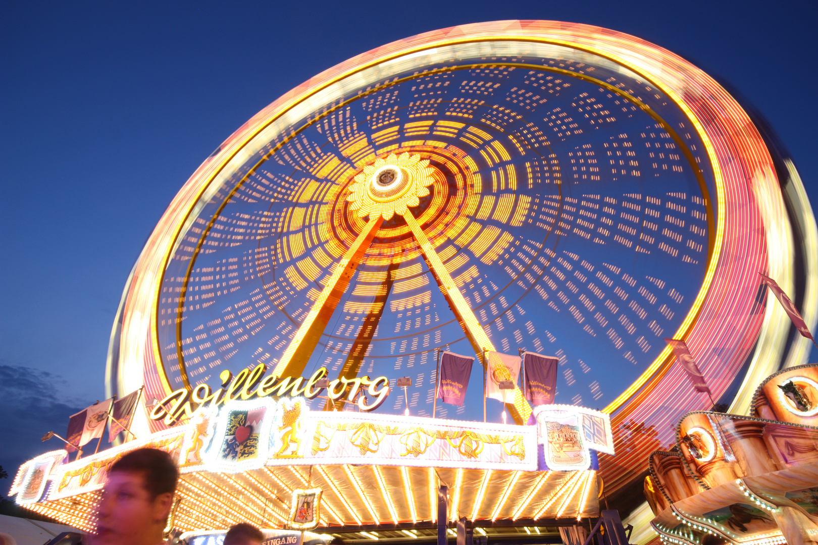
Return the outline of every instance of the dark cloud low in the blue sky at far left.
<path id="1" fill-rule="evenodd" d="M 65 436 L 68 418 L 84 409 L 65 388 L 65 380 L 52 373 L 0 364 L 0 466 L 10 477 L 4 488 L 22 462 L 62 447 L 56 438 L 45 444 L 40 438 L 49 430 Z"/>

